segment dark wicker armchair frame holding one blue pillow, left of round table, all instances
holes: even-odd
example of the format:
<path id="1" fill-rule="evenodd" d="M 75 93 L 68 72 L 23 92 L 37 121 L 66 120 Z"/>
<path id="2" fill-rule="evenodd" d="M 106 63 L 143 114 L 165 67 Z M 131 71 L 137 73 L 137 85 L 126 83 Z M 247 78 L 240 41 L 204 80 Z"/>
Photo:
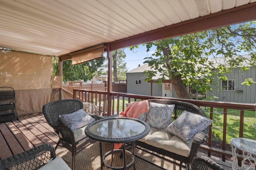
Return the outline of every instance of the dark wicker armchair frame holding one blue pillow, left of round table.
<path id="1" fill-rule="evenodd" d="M 79 141 L 75 141 L 74 132 L 70 129 L 70 127 L 64 125 L 60 121 L 59 115 L 73 113 L 79 109 L 83 109 L 83 103 L 78 99 L 58 100 L 45 104 L 43 107 L 43 113 L 46 121 L 57 134 L 61 135 L 55 149 L 60 146 L 72 152 L 73 170 L 75 169 L 76 154 L 78 154 L 80 151 L 95 141 L 89 139 L 88 137 L 85 137 Z M 96 119 L 100 119 L 100 117 Z"/>

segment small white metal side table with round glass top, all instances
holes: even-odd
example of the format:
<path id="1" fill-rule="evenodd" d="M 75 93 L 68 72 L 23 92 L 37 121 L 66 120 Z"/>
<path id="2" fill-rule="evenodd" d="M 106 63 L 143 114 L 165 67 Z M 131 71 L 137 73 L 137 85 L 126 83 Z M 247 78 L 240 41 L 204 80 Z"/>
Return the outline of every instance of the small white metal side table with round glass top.
<path id="1" fill-rule="evenodd" d="M 253 139 L 246 139 L 246 138 L 233 138 L 230 140 L 231 143 L 231 148 L 232 148 L 232 153 L 233 153 L 233 164 L 232 164 L 232 169 L 233 170 L 249 170 L 252 168 L 252 162 L 251 160 L 255 159 L 256 155 L 256 140 Z M 238 158 L 236 156 L 236 149 L 242 150 L 242 155 L 243 155 L 243 160 L 242 160 L 242 165 L 238 165 Z M 254 156 L 252 156 L 254 155 Z M 248 160 L 250 166 L 245 166 L 244 161 Z"/>

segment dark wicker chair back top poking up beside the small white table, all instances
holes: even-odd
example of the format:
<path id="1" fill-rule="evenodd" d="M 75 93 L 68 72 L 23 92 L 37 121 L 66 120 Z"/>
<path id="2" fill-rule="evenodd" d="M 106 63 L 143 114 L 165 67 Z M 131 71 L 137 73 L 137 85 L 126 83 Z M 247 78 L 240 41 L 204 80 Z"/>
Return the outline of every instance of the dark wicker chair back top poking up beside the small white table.
<path id="1" fill-rule="evenodd" d="M 191 164 L 192 170 L 225 170 L 206 156 L 196 156 Z"/>

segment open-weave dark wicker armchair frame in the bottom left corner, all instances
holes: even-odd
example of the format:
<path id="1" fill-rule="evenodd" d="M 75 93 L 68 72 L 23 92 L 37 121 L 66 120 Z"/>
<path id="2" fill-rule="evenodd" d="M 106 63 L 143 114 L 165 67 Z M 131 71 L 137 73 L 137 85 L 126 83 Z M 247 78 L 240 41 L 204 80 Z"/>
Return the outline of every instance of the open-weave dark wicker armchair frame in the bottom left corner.
<path id="1" fill-rule="evenodd" d="M 54 147 L 43 144 L 0 160 L 0 169 L 35 170 L 44 166 L 51 158 L 56 158 Z"/>

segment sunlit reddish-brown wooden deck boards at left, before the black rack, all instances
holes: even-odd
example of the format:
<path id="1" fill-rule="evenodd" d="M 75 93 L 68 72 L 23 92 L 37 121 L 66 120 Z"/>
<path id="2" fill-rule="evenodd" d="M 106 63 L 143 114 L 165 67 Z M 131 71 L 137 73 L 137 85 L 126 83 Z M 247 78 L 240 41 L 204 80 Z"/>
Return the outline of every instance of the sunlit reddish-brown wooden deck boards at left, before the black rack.
<path id="1" fill-rule="evenodd" d="M 0 159 L 24 152 L 43 143 L 56 147 L 58 135 L 42 113 L 0 123 Z"/>

